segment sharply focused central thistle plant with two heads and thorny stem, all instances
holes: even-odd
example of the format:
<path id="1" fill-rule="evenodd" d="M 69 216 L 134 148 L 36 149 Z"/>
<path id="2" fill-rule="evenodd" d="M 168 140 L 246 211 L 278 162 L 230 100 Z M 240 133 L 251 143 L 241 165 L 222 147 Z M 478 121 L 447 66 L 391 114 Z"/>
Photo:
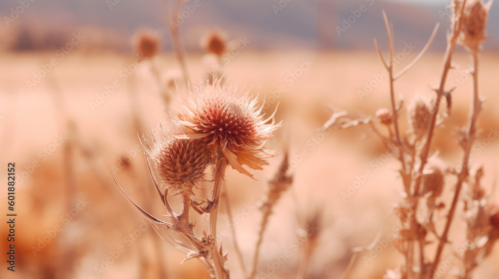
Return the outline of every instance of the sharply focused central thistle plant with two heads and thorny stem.
<path id="1" fill-rule="evenodd" d="M 217 216 L 225 170 L 230 165 L 252 177 L 243 164 L 262 169 L 267 164 L 265 158 L 273 154 L 265 143 L 280 124 L 273 121 L 266 124 L 273 115 L 263 120 L 256 99 L 251 99 L 248 92 L 241 93 L 235 86 L 225 85 L 222 89 L 220 82 L 192 87 L 180 97 L 179 104 L 177 113 L 171 114 L 177 127 L 162 129 L 160 135 L 151 132 L 152 144 L 143 143 L 152 181 L 170 220 L 153 217 L 129 199 L 166 241 L 187 254 L 185 260 L 198 258 L 213 278 L 229 278 L 225 267 L 227 251 L 217 243 Z M 201 197 L 194 189 L 206 181 L 209 165 L 215 166 L 213 194 Z M 181 196 L 180 213 L 174 212 L 170 194 Z M 195 231 L 191 209 L 208 215 L 208 231 L 203 230 L 202 235 Z M 183 235 L 187 242 L 174 232 Z"/>

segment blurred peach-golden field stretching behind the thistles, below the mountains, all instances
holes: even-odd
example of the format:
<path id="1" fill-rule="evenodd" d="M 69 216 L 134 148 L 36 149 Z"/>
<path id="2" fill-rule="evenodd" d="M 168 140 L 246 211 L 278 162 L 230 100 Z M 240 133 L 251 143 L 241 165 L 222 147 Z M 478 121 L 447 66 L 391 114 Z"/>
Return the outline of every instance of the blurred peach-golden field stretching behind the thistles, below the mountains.
<path id="1" fill-rule="evenodd" d="M 416 46 L 404 54 L 396 69 L 412 61 L 421 48 Z M 397 96 L 400 93 L 406 103 L 417 94 L 433 97 L 442 56 L 441 52 L 425 54 L 395 82 Z M 35 85 L 27 85 L 26 81 L 32 81 L 33 74 L 43 71 L 51 59 L 56 64 L 46 76 Z M 155 59 L 165 80 L 180 76 L 174 53 L 161 53 Z M 207 60 L 202 54 L 188 54 L 192 80 L 205 76 Z M 437 128 L 432 147 L 451 165 L 461 158 L 461 151 L 456 138 L 448 135 L 466 125 L 472 84 L 467 54 L 457 52 L 453 60 L 456 68 L 447 81 L 448 87 L 457 87 L 452 114 Z M 132 55 L 78 50 L 62 59 L 55 52 L 1 53 L 0 61 L 1 165 L 15 162 L 16 177 L 22 178 L 16 186 L 18 272 L 13 277 L 7 273 L 2 258 L 1 277 L 132 279 L 162 278 L 166 274 L 165 278 L 209 278 L 197 259 L 179 266 L 185 255 L 161 241 L 149 225 L 142 225 L 147 222 L 119 192 L 111 175 L 137 204 L 154 216 L 165 214 L 137 138 L 139 129 L 145 130 L 150 124 L 158 130 L 160 121 L 169 122 L 148 62 L 130 66 L 136 63 Z M 256 180 L 232 169 L 226 175 L 245 260 L 250 261 L 254 250 L 261 217 L 257 205 L 261 205 L 266 181 L 273 176 L 288 146 L 293 184 L 270 216 L 257 274 L 261 271 L 271 274 L 269 278 L 294 278 L 305 247 L 300 241 L 304 233 L 300 229 L 302 220 L 321 210 L 319 244 L 311 255 L 306 278 L 340 278 L 353 248 L 369 245 L 378 232 L 381 240 L 393 233 L 396 220 L 392 207 L 402 191 L 396 172 L 399 164 L 367 126 L 326 132 L 319 132 L 319 128 L 331 114 L 328 105 L 358 117 L 374 116 L 377 109 L 390 106 L 388 78 L 382 74 L 379 58 L 374 50 L 242 49 L 228 61 L 224 69 L 229 82 L 250 89 L 250 95 L 258 95 L 260 104 L 267 96 L 267 115 L 279 103 L 275 119 L 282 121 L 270 141 L 276 156 L 263 171 L 252 171 Z M 479 121 L 483 132 L 477 139 L 480 144 L 472 150 L 473 166 L 484 166 L 484 185 L 497 202 L 499 195 L 493 189 L 499 138 L 486 139 L 499 128 L 498 63 L 497 53 L 485 52 L 481 56 L 479 86 L 487 101 Z M 123 74 L 124 68 L 129 69 L 128 74 Z M 372 92 L 366 92 L 366 83 L 375 84 L 371 85 Z M 102 95 L 109 88 L 114 91 Z M 359 91 L 367 95 L 360 98 Z M 174 89 L 172 94 L 176 94 Z M 405 119 L 406 111 L 401 114 Z M 1 177 L 6 180 L 4 171 Z M 361 186 L 352 189 L 356 182 Z M 2 204 L 6 199 L 6 191 L 1 191 Z M 6 207 L 2 206 L 2 212 Z M 464 237 L 460 214 L 458 211 L 451 231 L 452 240 L 458 244 Z M 445 211 L 442 220 L 444 215 Z M 224 201 L 219 217 L 219 230 L 228 232 L 223 239 L 223 248 L 229 250 L 226 265 L 232 278 L 243 278 Z M 0 228 L 4 239 L 6 227 Z M 2 251 L 6 244 L 4 239 Z M 375 251 L 376 255 L 359 254 L 347 278 L 381 278 L 386 269 L 395 269 L 402 259 L 390 241 Z M 449 257 L 448 251 L 444 259 Z M 476 270 L 476 278 L 497 277 L 498 253 L 496 245 L 493 254 Z M 282 255 L 286 255 L 285 260 L 280 261 Z M 112 264 L 103 264 L 109 257 L 114 257 Z M 445 276 L 452 278 L 452 269 L 448 272 Z"/>

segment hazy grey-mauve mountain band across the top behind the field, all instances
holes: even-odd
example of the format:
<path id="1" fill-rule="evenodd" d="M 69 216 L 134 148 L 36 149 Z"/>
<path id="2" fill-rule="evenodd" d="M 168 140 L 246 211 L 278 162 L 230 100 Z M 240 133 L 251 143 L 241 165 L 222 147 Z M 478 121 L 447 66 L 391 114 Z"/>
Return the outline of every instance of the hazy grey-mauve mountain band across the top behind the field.
<path id="1" fill-rule="evenodd" d="M 397 45 L 411 42 L 421 48 L 435 24 L 441 22 L 433 49 L 442 49 L 450 18 L 442 3 L 382 0 L 189 0 L 182 4 L 180 18 L 167 19 L 165 15 L 172 14 L 172 9 L 164 7 L 161 0 L 2 1 L 0 44 L 10 49 L 60 47 L 73 32 L 81 32 L 85 35 L 82 44 L 87 47 L 127 51 L 133 32 L 150 27 L 164 35 L 164 48 L 168 49 L 167 24 L 174 22 L 181 26 L 190 50 L 199 49 L 200 36 L 211 28 L 225 30 L 233 39 L 246 37 L 251 48 L 372 49 L 373 36 L 386 44 L 381 15 L 385 9 L 393 22 Z M 499 49 L 497 15 L 499 6 L 493 5 L 488 29 L 492 38 L 487 49 Z"/>

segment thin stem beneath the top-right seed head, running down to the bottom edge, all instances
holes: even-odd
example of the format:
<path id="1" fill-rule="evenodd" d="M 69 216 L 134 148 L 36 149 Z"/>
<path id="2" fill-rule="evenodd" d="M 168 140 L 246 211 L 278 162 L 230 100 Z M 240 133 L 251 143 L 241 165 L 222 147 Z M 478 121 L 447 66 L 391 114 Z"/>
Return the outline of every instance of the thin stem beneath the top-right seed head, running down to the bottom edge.
<path id="1" fill-rule="evenodd" d="M 471 147 L 473 145 L 473 140 L 475 139 L 476 133 L 476 124 L 478 120 L 478 116 L 482 109 L 482 101 L 478 95 L 478 49 L 471 50 L 472 59 L 473 59 L 473 95 L 471 97 L 471 108 L 470 108 L 470 116 L 468 119 L 468 128 L 466 138 L 463 139 L 463 147 L 464 147 L 464 155 L 463 155 L 463 163 L 462 169 L 458 174 L 458 182 L 456 183 L 456 192 L 454 193 L 454 198 L 452 200 L 451 209 L 449 210 L 449 215 L 447 217 L 447 223 L 445 224 L 445 229 L 440 238 L 439 245 L 437 248 L 437 254 L 435 255 L 435 261 L 433 264 L 433 269 L 431 270 L 431 276 L 435 272 L 435 269 L 438 266 L 440 261 L 440 257 L 442 255 L 442 251 L 444 249 L 445 244 L 447 243 L 447 235 L 452 225 L 452 220 L 454 219 L 454 212 L 456 211 L 456 207 L 459 201 L 459 194 L 461 193 L 461 189 L 463 188 L 463 182 L 469 175 L 469 159 Z"/>

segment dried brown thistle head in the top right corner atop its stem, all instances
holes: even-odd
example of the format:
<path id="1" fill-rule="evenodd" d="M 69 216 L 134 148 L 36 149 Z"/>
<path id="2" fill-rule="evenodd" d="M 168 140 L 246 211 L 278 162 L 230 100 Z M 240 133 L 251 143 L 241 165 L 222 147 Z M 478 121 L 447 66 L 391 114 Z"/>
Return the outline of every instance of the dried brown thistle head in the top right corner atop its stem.
<path id="1" fill-rule="evenodd" d="M 462 1 L 459 4 L 462 5 Z M 487 21 L 492 1 L 484 4 L 483 0 L 468 0 L 461 18 L 461 32 L 457 43 L 473 51 L 481 49 L 482 43 L 487 40 Z"/>

